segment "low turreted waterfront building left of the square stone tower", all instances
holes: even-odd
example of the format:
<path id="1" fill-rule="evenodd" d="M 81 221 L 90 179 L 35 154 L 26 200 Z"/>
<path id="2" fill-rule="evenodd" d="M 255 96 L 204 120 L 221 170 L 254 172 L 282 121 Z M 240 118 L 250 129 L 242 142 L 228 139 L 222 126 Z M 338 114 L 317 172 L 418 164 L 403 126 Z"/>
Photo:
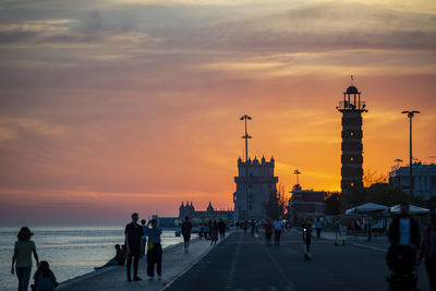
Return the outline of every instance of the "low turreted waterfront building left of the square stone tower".
<path id="1" fill-rule="evenodd" d="M 211 203 L 207 206 L 206 211 L 196 211 L 194 205 L 186 202 L 186 205 L 182 204 L 179 207 L 179 219 L 184 221 L 185 217 L 190 217 L 194 225 L 207 223 L 209 220 L 218 221 L 220 219 L 225 220 L 227 223 L 233 223 L 234 211 L 231 209 L 227 210 L 216 210 Z"/>

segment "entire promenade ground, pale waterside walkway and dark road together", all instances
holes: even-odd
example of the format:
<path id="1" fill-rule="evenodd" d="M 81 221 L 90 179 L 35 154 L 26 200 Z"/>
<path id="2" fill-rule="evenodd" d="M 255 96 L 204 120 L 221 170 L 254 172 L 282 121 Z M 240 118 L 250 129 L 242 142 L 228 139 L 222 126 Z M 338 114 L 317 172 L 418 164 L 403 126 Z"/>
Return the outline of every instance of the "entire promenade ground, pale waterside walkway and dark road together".
<path id="1" fill-rule="evenodd" d="M 286 231 L 280 246 L 265 246 L 264 235 L 233 231 L 226 244 L 213 247 L 195 240 L 185 254 L 178 244 L 164 251 L 162 280 L 146 280 L 146 262 L 140 264 L 144 281 L 126 282 L 124 267 L 111 267 L 62 283 L 59 290 L 386 290 L 388 274 L 386 238 L 367 242 L 348 238 L 335 246 L 335 233 L 313 239 L 312 262 L 303 260 L 303 243 L 296 231 Z M 427 291 L 427 276 L 419 268 L 419 287 Z"/>

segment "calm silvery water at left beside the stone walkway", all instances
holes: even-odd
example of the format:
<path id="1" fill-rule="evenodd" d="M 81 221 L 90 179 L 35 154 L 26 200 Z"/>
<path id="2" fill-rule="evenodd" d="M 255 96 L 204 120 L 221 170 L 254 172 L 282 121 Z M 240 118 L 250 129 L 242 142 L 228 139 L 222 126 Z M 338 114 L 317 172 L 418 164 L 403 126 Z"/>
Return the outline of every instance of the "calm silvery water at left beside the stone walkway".
<path id="1" fill-rule="evenodd" d="M 20 228 L 0 227 L 0 290 L 16 290 L 11 259 Z M 124 242 L 123 227 L 35 227 L 33 241 L 40 260 L 47 260 L 59 282 L 93 271 L 114 255 Z M 164 230 L 162 246 L 181 242 L 173 230 Z M 35 263 L 34 263 L 35 264 Z M 32 272 L 36 270 L 34 265 Z"/>

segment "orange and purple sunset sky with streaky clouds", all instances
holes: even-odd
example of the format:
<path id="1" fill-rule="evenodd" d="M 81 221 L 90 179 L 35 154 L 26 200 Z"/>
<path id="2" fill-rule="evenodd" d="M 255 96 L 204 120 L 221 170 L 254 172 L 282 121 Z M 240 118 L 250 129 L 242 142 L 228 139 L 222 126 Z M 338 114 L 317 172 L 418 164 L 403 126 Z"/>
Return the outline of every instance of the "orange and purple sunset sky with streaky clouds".
<path id="1" fill-rule="evenodd" d="M 363 3 L 364 2 L 364 3 Z M 0 223 L 123 223 L 233 207 L 252 157 L 290 191 L 339 190 L 362 92 L 364 169 L 436 155 L 436 1 L 0 2 Z"/>

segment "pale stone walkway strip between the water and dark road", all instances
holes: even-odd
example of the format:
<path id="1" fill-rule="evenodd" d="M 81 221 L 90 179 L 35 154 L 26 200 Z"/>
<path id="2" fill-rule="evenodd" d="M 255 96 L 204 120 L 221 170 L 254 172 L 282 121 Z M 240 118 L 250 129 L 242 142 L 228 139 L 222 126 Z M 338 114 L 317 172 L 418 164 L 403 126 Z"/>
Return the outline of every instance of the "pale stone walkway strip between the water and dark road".
<path id="1" fill-rule="evenodd" d="M 210 241 L 193 240 L 190 253 L 184 253 L 183 243 L 164 250 L 162 280 L 148 281 L 146 276 L 147 263 L 141 259 L 138 276 L 143 281 L 126 281 L 125 267 L 108 267 L 62 282 L 57 290 L 62 291 L 104 291 L 104 290 L 161 290 L 166 284 L 190 269 L 215 246 Z M 133 271 L 133 270 L 132 270 Z"/>

